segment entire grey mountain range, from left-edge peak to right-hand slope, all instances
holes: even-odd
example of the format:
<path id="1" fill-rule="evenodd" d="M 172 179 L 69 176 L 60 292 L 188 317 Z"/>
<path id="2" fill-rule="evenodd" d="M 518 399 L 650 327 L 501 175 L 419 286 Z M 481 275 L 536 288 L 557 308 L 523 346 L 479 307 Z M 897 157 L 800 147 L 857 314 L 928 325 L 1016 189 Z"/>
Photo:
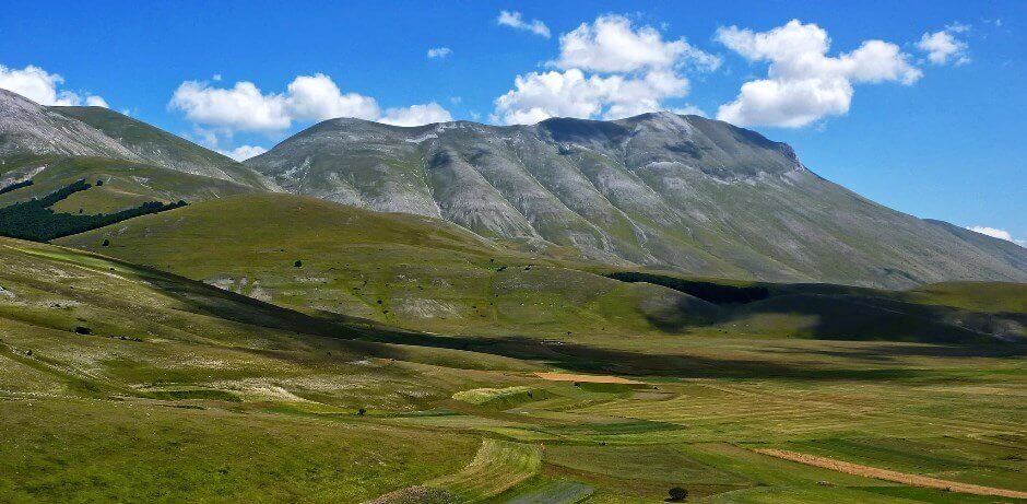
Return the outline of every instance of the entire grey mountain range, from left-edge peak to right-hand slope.
<path id="1" fill-rule="evenodd" d="M 44 107 L 0 90 L 0 186 L 39 181 L 0 204 L 94 176 L 115 181 L 105 210 L 291 192 L 623 268 L 881 288 L 1027 281 L 1027 249 L 877 204 L 817 176 L 784 143 L 698 116 L 412 128 L 331 119 L 237 163 L 109 109 Z"/>

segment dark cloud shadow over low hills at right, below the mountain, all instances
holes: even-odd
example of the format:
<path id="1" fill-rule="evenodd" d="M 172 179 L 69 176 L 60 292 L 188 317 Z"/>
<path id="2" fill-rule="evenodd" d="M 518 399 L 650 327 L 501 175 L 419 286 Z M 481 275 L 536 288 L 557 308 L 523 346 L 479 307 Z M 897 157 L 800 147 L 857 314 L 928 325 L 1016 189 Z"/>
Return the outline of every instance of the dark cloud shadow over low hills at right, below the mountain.
<path id="1" fill-rule="evenodd" d="M 902 293 L 877 289 L 819 283 L 772 284 L 753 282 L 733 285 L 677 277 L 614 272 L 606 277 L 623 282 L 662 285 L 716 305 L 717 324 L 737 326 L 742 332 L 784 331 L 789 336 L 821 340 L 919 341 L 931 343 L 990 343 L 995 338 L 1023 340 L 1020 328 L 1027 314 L 978 313 L 951 306 L 904 301 Z M 651 314 L 649 321 L 670 333 L 704 327 L 709 310 L 683 300 L 678 306 Z M 766 329 L 766 316 L 799 316 L 808 326 Z"/>

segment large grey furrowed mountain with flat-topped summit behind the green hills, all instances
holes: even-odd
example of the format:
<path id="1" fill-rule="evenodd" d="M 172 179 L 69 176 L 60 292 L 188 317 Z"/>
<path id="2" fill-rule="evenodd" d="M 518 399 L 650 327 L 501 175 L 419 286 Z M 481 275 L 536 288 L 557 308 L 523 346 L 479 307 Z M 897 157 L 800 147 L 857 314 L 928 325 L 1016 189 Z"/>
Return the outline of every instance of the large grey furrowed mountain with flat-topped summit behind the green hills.
<path id="1" fill-rule="evenodd" d="M 284 189 L 611 263 L 889 288 L 1027 281 L 1027 249 L 869 201 L 790 146 L 670 113 L 534 126 L 318 124 L 247 165 Z"/>

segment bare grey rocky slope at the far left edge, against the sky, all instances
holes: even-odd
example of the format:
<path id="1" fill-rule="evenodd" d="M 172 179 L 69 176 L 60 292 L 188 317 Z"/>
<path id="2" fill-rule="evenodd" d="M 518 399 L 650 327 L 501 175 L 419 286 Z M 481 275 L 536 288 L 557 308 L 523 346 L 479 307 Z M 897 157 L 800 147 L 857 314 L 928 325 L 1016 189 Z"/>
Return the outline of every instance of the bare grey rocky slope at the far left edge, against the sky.
<path id="1" fill-rule="evenodd" d="M 88 125 L 0 90 L 0 159 L 16 154 L 58 154 L 143 161 Z"/>

